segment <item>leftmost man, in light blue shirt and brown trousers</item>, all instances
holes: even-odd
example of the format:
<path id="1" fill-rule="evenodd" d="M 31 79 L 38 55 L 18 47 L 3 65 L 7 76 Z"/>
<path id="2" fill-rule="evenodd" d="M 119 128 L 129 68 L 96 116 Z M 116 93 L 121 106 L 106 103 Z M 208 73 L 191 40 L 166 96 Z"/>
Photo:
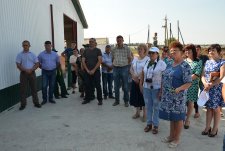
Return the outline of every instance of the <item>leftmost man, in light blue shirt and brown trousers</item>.
<path id="1" fill-rule="evenodd" d="M 27 85 L 29 84 L 31 88 L 31 94 L 34 106 L 40 108 L 41 105 L 38 101 L 37 86 L 36 86 L 36 74 L 35 70 L 38 68 L 38 59 L 30 52 L 30 42 L 25 40 L 22 43 L 23 51 L 20 52 L 16 57 L 16 65 L 20 70 L 20 96 L 21 96 L 21 106 L 19 110 L 23 110 L 26 107 L 26 93 Z"/>

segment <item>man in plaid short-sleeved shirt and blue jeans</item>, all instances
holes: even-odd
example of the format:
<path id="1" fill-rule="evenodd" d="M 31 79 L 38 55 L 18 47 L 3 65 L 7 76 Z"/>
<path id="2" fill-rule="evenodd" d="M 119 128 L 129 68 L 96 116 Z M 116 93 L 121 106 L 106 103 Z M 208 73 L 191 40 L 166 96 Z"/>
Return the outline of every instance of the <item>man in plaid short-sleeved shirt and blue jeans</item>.
<path id="1" fill-rule="evenodd" d="M 123 44 L 124 40 L 121 35 L 116 37 L 116 41 L 117 45 L 112 49 L 113 78 L 115 87 L 115 102 L 113 103 L 113 106 L 120 103 L 120 87 L 122 85 L 125 107 L 128 107 L 128 74 L 129 64 L 131 62 L 131 51 L 129 47 Z"/>

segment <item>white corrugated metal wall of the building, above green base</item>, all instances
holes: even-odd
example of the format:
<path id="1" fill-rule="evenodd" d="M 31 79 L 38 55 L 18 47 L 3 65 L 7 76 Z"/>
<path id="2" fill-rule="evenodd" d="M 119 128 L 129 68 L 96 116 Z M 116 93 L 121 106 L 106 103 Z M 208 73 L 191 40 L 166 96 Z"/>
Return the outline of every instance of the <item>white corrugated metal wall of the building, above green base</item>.
<path id="1" fill-rule="evenodd" d="M 15 58 L 22 51 L 23 40 L 31 42 L 31 51 L 36 55 L 44 50 L 44 41 L 51 41 L 50 4 L 53 4 L 55 48 L 60 52 L 64 49 L 63 14 L 77 22 L 77 42 L 82 46 L 83 26 L 71 0 L 0 0 L 0 89 L 19 83 Z"/>

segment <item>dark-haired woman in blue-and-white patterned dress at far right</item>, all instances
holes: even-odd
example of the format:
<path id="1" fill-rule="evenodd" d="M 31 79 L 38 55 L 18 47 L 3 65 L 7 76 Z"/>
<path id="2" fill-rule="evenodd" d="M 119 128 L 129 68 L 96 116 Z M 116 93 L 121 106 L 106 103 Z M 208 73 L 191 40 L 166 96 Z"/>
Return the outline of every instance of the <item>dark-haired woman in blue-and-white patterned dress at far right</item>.
<path id="1" fill-rule="evenodd" d="M 206 112 L 206 127 L 202 135 L 215 137 L 217 135 L 220 122 L 220 107 L 224 106 L 222 99 L 222 83 L 221 80 L 225 75 L 225 60 L 221 59 L 221 47 L 219 44 L 213 44 L 208 49 L 210 60 L 206 61 L 202 75 L 202 83 L 204 90 L 209 92 L 209 100 L 205 106 Z M 213 76 L 216 75 L 217 76 Z M 213 127 L 211 122 L 213 119 Z"/>

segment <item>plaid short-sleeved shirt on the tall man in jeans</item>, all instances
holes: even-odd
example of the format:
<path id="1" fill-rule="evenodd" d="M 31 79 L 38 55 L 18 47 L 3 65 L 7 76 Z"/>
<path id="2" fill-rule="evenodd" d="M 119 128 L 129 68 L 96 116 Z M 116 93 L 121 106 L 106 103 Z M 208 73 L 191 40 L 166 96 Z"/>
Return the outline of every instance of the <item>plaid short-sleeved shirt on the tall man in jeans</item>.
<path id="1" fill-rule="evenodd" d="M 123 46 L 122 48 L 115 47 L 111 51 L 113 57 L 113 66 L 123 67 L 129 65 L 129 60 L 131 56 L 130 48 Z"/>

